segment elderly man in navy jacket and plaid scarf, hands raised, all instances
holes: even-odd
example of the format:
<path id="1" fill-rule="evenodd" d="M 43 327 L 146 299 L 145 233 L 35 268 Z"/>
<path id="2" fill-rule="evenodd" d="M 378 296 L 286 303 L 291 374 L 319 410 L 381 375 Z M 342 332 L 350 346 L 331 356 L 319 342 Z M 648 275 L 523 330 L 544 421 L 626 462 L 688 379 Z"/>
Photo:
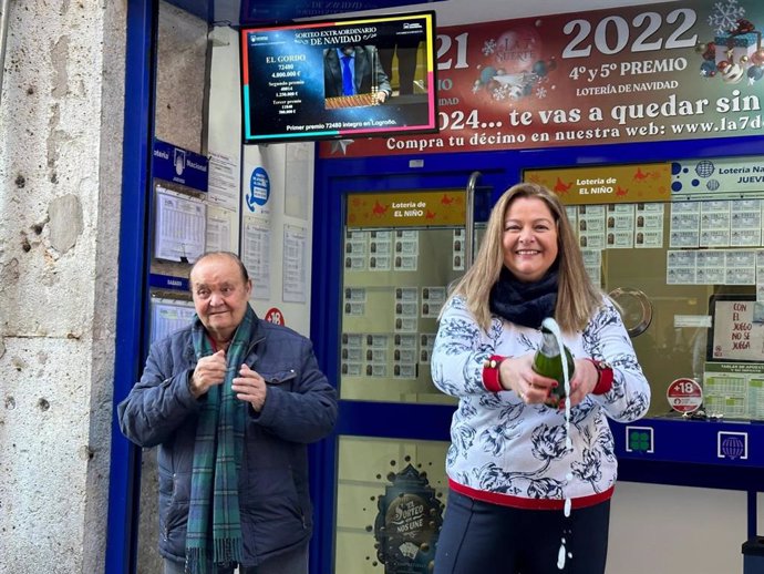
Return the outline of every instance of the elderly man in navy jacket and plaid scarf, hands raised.
<path id="1" fill-rule="evenodd" d="M 165 574 L 307 574 L 307 444 L 337 419 L 310 340 L 259 319 L 229 253 L 190 270 L 196 316 L 156 341 L 118 406 L 124 434 L 159 447 Z"/>

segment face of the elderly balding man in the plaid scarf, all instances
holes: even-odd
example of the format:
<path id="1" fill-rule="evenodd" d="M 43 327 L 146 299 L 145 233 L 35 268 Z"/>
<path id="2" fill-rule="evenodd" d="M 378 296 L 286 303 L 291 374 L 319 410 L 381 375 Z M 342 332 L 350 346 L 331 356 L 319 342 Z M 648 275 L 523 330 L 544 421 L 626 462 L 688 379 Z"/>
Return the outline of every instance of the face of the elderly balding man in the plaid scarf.
<path id="1" fill-rule="evenodd" d="M 247 312 L 252 283 L 245 283 L 231 257 L 210 255 L 196 264 L 190 284 L 202 324 L 216 341 L 229 341 Z"/>

